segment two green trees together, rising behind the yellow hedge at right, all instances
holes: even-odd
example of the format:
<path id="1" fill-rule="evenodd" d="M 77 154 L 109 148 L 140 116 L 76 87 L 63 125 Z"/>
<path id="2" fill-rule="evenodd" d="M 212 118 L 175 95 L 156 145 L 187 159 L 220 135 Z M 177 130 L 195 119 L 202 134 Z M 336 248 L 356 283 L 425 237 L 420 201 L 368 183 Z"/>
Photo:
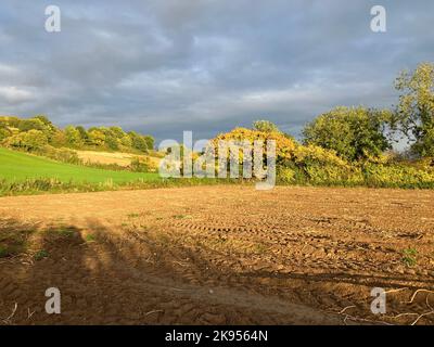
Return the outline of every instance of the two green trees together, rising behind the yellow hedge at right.
<path id="1" fill-rule="evenodd" d="M 434 64 L 422 63 L 395 80 L 398 103 L 391 110 L 336 107 L 303 130 L 303 142 L 335 151 L 348 160 L 379 157 L 406 140 L 411 157 L 434 157 Z"/>

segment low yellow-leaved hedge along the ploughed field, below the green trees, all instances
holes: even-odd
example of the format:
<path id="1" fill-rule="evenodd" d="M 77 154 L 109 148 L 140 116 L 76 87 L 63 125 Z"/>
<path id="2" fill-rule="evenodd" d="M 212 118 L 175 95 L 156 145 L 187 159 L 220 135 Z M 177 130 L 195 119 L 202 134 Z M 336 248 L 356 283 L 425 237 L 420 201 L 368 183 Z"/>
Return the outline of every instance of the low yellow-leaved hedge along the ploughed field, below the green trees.
<path id="1" fill-rule="evenodd" d="M 255 140 L 261 140 L 264 154 L 267 140 L 275 140 L 279 184 L 434 188 L 434 163 L 431 158 L 410 163 L 396 160 L 386 153 L 378 156 L 367 155 L 362 160 L 349 162 L 333 150 L 314 144 L 302 145 L 279 131 L 235 128 L 212 140 L 210 145 L 215 150 L 216 159 L 220 140 L 235 143 L 244 141 L 250 145 L 253 145 Z M 240 167 L 243 162 L 242 154 L 240 150 Z M 216 160 L 216 167 L 217 165 Z"/>

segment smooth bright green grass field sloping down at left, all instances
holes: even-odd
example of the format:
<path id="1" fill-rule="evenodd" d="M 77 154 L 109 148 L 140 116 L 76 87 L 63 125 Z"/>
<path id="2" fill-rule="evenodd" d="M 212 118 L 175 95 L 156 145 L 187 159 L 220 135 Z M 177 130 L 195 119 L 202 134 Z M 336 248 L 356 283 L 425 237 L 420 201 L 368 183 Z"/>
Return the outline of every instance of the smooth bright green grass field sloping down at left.
<path id="1" fill-rule="evenodd" d="M 28 155 L 0 147 L 0 180 L 20 182 L 27 179 L 52 178 L 61 182 L 115 184 L 133 181 L 158 181 L 158 174 L 112 171 L 86 166 L 63 164 L 48 158 Z"/>

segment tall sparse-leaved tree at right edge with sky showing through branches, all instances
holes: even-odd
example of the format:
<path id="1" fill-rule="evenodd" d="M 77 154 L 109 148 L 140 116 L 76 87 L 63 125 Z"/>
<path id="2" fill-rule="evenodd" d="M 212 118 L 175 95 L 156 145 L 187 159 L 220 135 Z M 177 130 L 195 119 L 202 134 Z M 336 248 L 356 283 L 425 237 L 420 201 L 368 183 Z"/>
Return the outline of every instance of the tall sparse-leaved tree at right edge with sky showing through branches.
<path id="1" fill-rule="evenodd" d="M 414 72 L 403 72 L 395 81 L 400 92 L 395 129 L 412 142 L 411 151 L 434 156 L 434 64 L 422 63 Z"/>

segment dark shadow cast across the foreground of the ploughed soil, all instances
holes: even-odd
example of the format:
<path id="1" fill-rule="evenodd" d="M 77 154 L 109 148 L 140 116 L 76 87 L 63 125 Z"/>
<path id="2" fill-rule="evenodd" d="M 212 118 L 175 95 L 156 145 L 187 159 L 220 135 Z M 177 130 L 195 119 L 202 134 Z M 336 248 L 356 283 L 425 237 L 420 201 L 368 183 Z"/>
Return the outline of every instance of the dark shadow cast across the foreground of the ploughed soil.
<path id="1" fill-rule="evenodd" d="M 352 288 L 406 280 L 240 271 L 233 256 L 216 264 L 203 255 L 213 250 L 188 247 L 170 233 L 115 230 L 97 219 L 80 227 L 0 219 L 0 245 L 12 249 L 0 258 L 0 324 L 335 324 L 341 317 L 320 311 L 330 308 L 326 301 L 335 309 L 353 303 L 367 316 L 366 296 Z M 345 284 L 348 292 L 333 293 Z M 44 311 L 49 287 L 61 292 L 61 314 Z M 294 312 L 291 303 L 314 307 L 318 317 Z"/>

